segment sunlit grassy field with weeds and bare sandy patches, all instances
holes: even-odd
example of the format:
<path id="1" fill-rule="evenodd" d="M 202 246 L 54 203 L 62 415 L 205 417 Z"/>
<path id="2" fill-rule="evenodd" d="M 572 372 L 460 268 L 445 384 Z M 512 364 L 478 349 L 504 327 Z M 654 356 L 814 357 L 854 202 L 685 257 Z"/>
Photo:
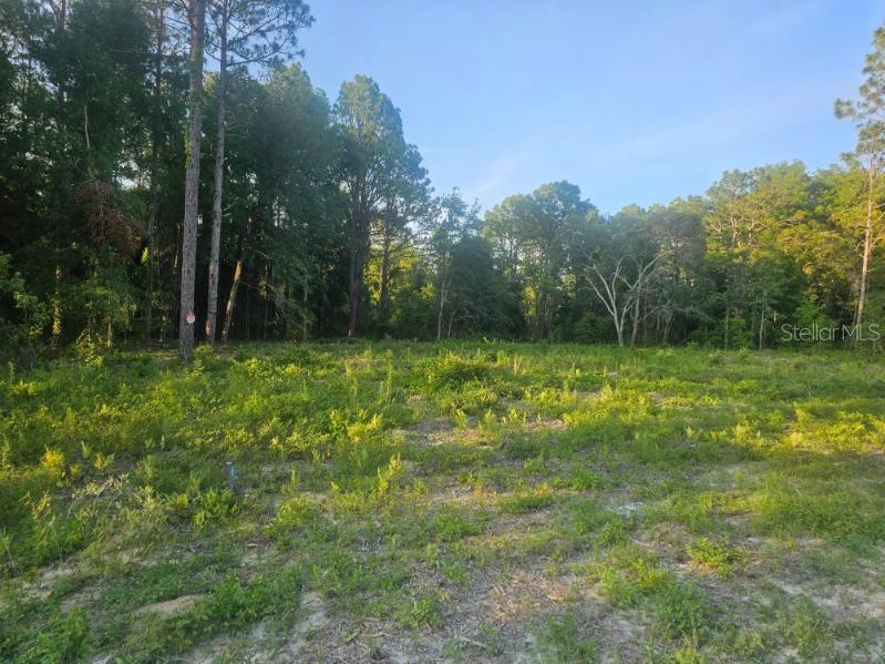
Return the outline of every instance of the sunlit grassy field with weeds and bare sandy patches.
<path id="1" fill-rule="evenodd" d="M 885 655 L 879 357 L 114 353 L 0 417 L 2 661 Z"/>

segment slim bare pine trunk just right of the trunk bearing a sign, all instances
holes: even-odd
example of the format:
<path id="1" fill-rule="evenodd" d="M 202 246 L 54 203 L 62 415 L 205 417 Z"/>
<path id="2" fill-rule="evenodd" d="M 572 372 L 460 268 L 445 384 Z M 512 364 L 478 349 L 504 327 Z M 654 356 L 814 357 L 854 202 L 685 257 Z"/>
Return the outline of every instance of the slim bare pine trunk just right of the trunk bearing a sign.
<path id="1" fill-rule="evenodd" d="M 215 150 L 215 191 L 212 200 L 212 251 L 209 257 L 209 293 L 206 305 L 206 343 L 215 344 L 218 319 L 218 262 L 222 254 L 222 193 L 225 173 L 225 112 L 227 110 L 227 18 L 222 17 L 218 40 L 218 137 Z"/>

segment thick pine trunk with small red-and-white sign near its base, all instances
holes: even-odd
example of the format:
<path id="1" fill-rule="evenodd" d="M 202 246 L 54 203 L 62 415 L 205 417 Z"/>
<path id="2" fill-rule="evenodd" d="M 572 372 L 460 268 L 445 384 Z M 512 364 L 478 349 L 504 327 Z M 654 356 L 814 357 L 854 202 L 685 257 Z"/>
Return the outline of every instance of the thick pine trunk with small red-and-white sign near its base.
<path id="1" fill-rule="evenodd" d="M 194 279 L 197 262 L 197 206 L 199 204 L 199 143 L 203 124 L 203 41 L 206 0 L 191 0 L 191 83 L 187 102 L 191 122 L 185 167 L 184 232 L 182 237 L 182 299 L 178 313 L 178 355 L 184 360 L 194 353 Z M 188 321 L 188 317 L 192 320 Z"/>

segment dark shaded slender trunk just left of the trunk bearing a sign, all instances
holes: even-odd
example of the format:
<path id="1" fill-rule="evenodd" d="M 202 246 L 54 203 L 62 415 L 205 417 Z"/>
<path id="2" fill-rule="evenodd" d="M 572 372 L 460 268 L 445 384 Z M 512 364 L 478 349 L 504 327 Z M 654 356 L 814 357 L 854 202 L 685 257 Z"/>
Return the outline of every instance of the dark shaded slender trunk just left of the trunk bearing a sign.
<path id="1" fill-rule="evenodd" d="M 163 42 L 165 40 L 165 7 L 156 7 L 156 51 L 154 51 L 154 103 L 151 122 L 151 193 L 147 212 L 147 288 L 144 302 L 144 340 L 151 343 L 154 327 L 154 287 L 156 285 L 156 223 L 159 206 L 159 140 L 161 95 L 163 93 Z"/>

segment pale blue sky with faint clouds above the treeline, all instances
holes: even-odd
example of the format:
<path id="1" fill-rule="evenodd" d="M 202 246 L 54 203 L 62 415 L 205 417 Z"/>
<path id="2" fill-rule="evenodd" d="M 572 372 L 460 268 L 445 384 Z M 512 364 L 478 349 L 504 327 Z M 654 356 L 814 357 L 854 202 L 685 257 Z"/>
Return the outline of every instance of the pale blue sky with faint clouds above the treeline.
<path id="1" fill-rule="evenodd" d="M 438 192 L 488 208 L 554 180 L 604 212 L 701 194 L 728 168 L 851 150 L 875 1 L 315 0 L 305 67 L 364 73 Z"/>

